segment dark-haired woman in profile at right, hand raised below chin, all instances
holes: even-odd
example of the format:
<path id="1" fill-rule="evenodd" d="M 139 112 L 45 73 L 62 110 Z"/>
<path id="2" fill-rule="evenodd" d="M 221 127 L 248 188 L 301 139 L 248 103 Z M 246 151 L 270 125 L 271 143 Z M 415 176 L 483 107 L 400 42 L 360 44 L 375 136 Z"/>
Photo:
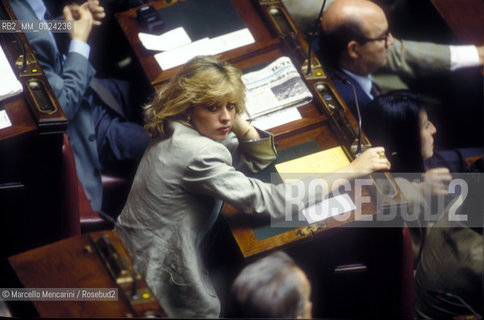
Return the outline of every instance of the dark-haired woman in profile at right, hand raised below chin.
<path id="1" fill-rule="evenodd" d="M 415 266 L 428 222 L 436 222 L 442 215 L 441 200 L 449 202 L 457 196 L 449 195 L 448 184 L 452 180 L 451 172 L 466 169 L 461 152 L 482 153 L 479 148 L 434 152 L 437 129 L 429 120 L 427 109 L 436 103 L 434 99 L 406 90 L 393 91 L 375 98 L 363 114 L 365 133 L 372 143 L 385 147 L 401 191 L 414 202 L 412 214 L 419 219 L 408 225 L 412 227 Z"/>

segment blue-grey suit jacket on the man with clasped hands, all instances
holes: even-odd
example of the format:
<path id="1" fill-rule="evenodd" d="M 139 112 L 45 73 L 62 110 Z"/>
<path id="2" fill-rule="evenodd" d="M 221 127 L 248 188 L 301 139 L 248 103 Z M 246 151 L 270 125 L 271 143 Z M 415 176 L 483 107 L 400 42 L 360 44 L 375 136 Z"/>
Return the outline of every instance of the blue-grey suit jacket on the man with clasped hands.
<path id="1" fill-rule="evenodd" d="M 17 19 L 37 20 L 26 1 L 10 0 Z M 67 116 L 76 169 L 86 196 L 94 210 L 101 209 L 101 164 L 96 145 L 90 97 L 85 97 L 95 70 L 78 53 L 68 53 L 62 64 L 62 55 L 47 32 L 28 32 L 25 36 L 49 81 L 62 110 Z"/>

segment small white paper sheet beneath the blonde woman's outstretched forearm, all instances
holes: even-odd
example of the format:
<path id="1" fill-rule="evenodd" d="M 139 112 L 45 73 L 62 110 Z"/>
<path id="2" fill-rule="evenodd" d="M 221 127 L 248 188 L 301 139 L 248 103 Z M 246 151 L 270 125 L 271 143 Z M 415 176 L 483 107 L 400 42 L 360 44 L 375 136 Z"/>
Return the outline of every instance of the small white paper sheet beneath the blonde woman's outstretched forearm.
<path id="1" fill-rule="evenodd" d="M 325 220 L 356 209 L 356 205 L 348 194 L 341 194 L 325 199 L 303 209 L 301 212 L 308 223 Z"/>

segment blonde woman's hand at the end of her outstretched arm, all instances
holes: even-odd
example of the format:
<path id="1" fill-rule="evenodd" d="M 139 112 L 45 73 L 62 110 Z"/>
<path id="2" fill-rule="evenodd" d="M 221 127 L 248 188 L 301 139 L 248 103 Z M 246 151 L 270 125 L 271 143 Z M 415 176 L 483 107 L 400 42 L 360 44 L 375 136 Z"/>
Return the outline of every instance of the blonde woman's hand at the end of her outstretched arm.
<path id="1" fill-rule="evenodd" d="M 348 166 L 338 171 L 363 176 L 375 171 L 390 170 L 390 166 L 390 161 L 385 156 L 385 148 L 375 147 L 366 150 Z"/>

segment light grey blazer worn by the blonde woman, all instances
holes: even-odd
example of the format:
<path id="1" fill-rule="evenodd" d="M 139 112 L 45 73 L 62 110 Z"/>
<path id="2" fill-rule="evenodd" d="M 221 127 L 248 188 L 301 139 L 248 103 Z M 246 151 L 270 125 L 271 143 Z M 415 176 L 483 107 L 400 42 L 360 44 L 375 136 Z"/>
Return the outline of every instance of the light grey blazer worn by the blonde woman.
<path id="1" fill-rule="evenodd" d="M 284 185 L 249 178 L 276 157 L 273 137 L 222 143 L 178 122 L 154 140 L 138 167 L 117 228 L 139 270 L 171 317 L 218 317 L 220 302 L 202 264 L 200 235 L 214 199 L 242 212 L 283 214 Z"/>

